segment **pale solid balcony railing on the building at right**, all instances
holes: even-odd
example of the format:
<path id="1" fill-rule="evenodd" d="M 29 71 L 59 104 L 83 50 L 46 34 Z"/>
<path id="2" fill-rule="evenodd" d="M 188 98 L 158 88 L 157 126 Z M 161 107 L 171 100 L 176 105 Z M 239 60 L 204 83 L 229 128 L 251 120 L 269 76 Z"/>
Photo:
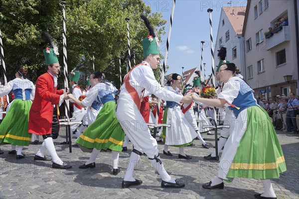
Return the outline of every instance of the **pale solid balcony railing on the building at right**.
<path id="1" fill-rule="evenodd" d="M 266 50 L 272 50 L 287 41 L 290 41 L 290 29 L 289 26 L 282 26 L 280 31 L 274 33 L 271 37 L 266 38 Z"/>

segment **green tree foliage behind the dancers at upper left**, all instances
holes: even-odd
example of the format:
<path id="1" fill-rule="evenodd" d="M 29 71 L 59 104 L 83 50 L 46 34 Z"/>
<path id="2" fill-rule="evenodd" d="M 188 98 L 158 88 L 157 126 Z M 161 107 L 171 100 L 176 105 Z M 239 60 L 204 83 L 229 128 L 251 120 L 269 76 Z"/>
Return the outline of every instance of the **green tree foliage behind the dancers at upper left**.
<path id="1" fill-rule="evenodd" d="M 165 20 L 161 13 L 151 13 L 142 0 L 66 0 L 67 65 L 70 72 L 84 63 L 82 71 L 106 73 L 108 80 L 120 85 L 119 58 L 122 79 L 126 74 L 128 57 L 127 21 L 130 18 L 130 45 L 135 50 L 136 63 L 143 59 L 142 38 L 148 30 L 140 18 L 149 17 L 157 34 L 164 34 Z M 59 62 L 63 67 L 62 5 L 60 0 L 0 0 L 0 29 L 4 48 L 4 61 L 8 80 L 14 78 L 18 66 L 27 66 L 33 81 L 46 71 L 42 50 L 47 45 L 42 31 L 51 34 L 59 46 Z M 131 50 L 132 52 L 132 50 Z M 132 61 L 132 66 L 134 65 Z M 61 68 L 63 71 L 63 68 Z M 59 80 L 63 81 L 61 72 Z"/>

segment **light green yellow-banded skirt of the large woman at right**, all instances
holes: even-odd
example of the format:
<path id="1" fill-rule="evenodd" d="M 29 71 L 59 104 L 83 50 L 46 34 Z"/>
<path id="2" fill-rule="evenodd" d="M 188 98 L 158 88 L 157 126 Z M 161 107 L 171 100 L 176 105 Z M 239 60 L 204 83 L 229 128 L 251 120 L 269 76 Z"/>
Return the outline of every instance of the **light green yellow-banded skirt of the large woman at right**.
<path id="1" fill-rule="evenodd" d="M 264 108 L 247 108 L 247 130 L 227 178 L 279 178 L 287 170 L 284 154 L 271 119 Z"/>

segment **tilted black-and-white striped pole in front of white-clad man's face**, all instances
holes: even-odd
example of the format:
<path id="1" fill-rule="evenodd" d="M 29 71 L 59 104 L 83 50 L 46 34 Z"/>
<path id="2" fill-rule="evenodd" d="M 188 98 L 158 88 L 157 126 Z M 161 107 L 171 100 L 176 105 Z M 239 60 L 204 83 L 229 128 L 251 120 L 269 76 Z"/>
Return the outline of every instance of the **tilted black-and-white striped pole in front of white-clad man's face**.
<path id="1" fill-rule="evenodd" d="M 161 70 L 161 68 L 160 68 L 160 72 L 161 72 L 160 84 L 161 85 L 164 85 L 164 76 L 165 76 L 165 71 L 166 71 L 166 62 L 167 62 L 167 57 L 168 57 L 168 49 L 169 49 L 169 41 L 170 41 L 170 35 L 171 35 L 174 7 L 175 7 L 175 0 L 173 0 L 173 2 L 172 2 L 169 29 L 168 29 L 168 35 L 167 35 L 167 41 L 166 41 L 166 51 L 165 51 L 164 60 L 163 60 L 163 69 Z M 155 138 L 156 133 L 157 133 L 160 104 L 161 104 L 161 99 L 158 99 L 157 111 L 156 111 L 156 117 L 155 117 L 156 120 L 155 120 L 154 129 L 153 129 L 153 138 Z"/>

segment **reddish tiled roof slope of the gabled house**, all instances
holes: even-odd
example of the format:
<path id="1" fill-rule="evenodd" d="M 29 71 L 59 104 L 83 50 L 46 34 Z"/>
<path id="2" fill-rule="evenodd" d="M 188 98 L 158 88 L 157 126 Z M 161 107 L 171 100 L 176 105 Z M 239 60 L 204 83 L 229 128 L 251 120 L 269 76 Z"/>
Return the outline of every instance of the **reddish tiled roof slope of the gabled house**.
<path id="1" fill-rule="evenodd" d="M 222 7 L 228 20 L 232 24 L 237 34 L 242 34 L 244 18 L 246 13 L 246 6 Z M 233 15 L 234 12 L 234 15 Z"/>

